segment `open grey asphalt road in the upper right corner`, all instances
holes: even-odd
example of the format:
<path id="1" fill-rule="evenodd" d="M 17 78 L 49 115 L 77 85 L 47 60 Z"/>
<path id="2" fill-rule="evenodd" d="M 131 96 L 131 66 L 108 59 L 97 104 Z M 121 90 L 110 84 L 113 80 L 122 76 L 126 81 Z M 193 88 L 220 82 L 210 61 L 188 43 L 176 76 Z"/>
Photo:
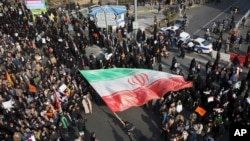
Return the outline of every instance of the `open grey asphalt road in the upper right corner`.
<path id="1" fill-rule="evenodd" d="M 247 10 L 249 10 L 249 0 L 222 0 L 220 4 L 206 4 L 187 11 L 189 24 L 186 31 L 191 34 L 203 36 L 207 27 L 211 27 L 212 22 L 222 22 L 225 18 L 230 18 L 230 8 L 232 6 L 240 8 L 235 16 L 235 21 L 239 20 Z"/>

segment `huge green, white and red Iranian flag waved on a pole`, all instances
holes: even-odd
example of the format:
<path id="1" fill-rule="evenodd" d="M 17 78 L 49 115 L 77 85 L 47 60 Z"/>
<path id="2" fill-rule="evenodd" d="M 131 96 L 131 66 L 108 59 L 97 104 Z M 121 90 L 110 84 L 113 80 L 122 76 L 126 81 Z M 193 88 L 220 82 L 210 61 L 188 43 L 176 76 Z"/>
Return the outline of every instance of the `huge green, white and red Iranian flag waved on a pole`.
<path id="1" fill-rule="evenodd" d="M 147 69 L 81 70 L 81 74 L 113 112 L 140 106 L 169 91 L 192 87 L 180 75 Z"/>

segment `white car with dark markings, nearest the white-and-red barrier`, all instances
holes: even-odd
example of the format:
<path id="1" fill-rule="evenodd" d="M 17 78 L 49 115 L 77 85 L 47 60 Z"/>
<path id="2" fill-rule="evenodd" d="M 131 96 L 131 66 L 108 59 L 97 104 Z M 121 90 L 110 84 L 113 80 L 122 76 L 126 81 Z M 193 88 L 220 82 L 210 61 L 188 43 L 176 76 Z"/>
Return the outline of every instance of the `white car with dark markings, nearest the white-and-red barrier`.
<path id="1" fill-rule="evenodd" d="M 182 42 L 184 44 L 184 47 L 186 47 L 187 49 L 196 51 L 198 53 L 211 53 L 213 51 L 213 44 L 201 37 L 179 41 Z"/>

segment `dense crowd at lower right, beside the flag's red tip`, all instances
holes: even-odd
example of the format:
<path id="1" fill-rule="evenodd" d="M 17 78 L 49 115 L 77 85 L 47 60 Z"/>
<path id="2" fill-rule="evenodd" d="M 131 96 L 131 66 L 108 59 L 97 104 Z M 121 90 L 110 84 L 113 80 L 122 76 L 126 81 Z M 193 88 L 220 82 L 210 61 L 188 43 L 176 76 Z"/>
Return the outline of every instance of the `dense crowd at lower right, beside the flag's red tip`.
<path id="1" fill-rule="evenodd" d="M 162 119 L 162 137 L 166 141 L 222 141 L 230 126 L 249 126 L 250 73 L 239 79 L 242 70 L 238 66 L 236 63 L 220 67 L 218 60 L 209 61 L 203 79 L 198 63 L 193 59 L 187 80 L 193 81 L 194 87 L 170 92 L 153 104 Z M 200 108 L 205 114 L 198 110 Z M 190 112 L 188 116 L 184 110 Z"/>

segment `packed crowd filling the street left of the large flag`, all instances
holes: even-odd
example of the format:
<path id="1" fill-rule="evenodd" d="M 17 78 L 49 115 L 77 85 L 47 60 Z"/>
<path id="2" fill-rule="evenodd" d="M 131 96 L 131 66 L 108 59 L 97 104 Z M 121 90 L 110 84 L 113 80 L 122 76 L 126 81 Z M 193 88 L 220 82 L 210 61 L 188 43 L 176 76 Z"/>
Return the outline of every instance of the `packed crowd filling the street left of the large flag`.
<path id="1" fill-rule="evenodd" d="M 0 140 L 82 139 L 84 115 L 92 106 L 78 69 L 91 62 L 84 53 L 91 25 L 83 17 L 70 19 L 60 8 L 34 16 L 20 1 L 2 2 Z M 89 136 L 97 140 L 94 132 Z"/>

